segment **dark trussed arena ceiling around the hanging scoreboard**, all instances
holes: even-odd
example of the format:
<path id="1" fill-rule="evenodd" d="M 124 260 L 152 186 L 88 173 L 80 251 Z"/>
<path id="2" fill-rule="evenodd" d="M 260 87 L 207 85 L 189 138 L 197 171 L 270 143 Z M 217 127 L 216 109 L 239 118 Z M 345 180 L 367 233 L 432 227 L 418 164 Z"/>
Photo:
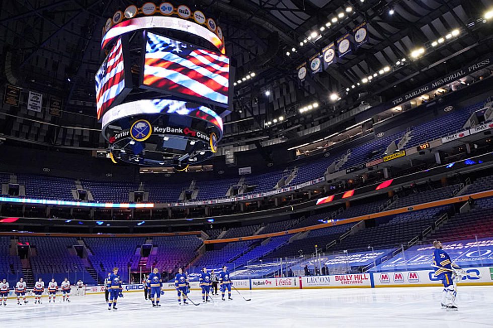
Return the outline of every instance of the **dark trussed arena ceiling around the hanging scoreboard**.
<path id="1" fill-rule="evenodd" d="M 94 75 L 102 59 L 101 31 L 109 17 L 132 4 L 143 2 L 0 2 L 1 84 L 62 95 L 63 111 L 95 116 Z M 236 64 L 236 77 L 256 73 L 235 86 L 235 113 L 230 120 L 253 118 L 236 130 L 260 130 L 271 137 L 263 123 L 289 114 L 288 106 L 273 107 L 259 97 L 266 90 L 282 89 L 283 83 L 297 85 L 297 100 L 291 104 L 295 110 L 303 102 L 322 104 L 309 119 L 286 120 L 285 127 L 293 127 L 326 115 L 329 108 L 337 115 L 365 97 L 388 98 L 491 49 L 491 24 L 481 22 L 491 9 L 488 0 L 184 0 L 174 4 L 216 18 L 225 34 L 227 54 Z M 327 26 L 334 18 L 337 22 Z M 370 34 L 367 44 L 305 83 L 296 83 L 298 65 L 364 22 Z M 411 58 L 415 49 L 429 47 L 454 29 L 460 30 L 454 40 L 430 48 L 419 60 Z M 317 36 L 312 39 L 314 32 Z M 362 82 L 385 66 L 392 67 L 389 74 Z M 337 104 L 331 101 L 333 93 L 341 97 Z M 259 101 L 266 102 L 263 110 L 254 108 Z"/>

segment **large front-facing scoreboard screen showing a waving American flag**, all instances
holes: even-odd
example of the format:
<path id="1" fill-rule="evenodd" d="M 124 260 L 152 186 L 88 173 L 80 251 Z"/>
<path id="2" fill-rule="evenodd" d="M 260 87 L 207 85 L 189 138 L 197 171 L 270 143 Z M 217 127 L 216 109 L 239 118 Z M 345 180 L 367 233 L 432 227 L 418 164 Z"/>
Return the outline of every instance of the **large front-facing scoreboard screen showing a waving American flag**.
<path id="1" fill-rule="evenodd" d="M 143 84 L 227 104 L 229 58 L 147 33 Z"/>

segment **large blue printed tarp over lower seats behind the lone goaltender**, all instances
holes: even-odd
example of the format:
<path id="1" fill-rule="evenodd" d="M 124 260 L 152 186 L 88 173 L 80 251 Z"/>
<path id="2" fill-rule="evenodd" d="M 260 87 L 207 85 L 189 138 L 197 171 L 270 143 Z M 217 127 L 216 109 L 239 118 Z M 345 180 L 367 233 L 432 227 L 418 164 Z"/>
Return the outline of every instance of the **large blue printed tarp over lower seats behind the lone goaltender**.
<path id="1" fill-rule="evenodd" d="M 413 246 L 371 271 L 432 269 L 434 249 L 433 245 Z M 479 239 L 477 243 L 475 240 L 443 243 L 443 250 L 460 267 L 493 265 L 492 238 Z"/>

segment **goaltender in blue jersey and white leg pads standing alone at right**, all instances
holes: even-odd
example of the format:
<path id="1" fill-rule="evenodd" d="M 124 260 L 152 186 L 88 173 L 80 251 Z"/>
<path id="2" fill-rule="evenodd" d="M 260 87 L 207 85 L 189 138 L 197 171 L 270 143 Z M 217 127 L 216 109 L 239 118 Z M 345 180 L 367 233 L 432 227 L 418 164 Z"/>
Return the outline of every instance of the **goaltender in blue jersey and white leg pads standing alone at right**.
<path id="1" fill-rule="evenodd" d="M 443 283 L 443 295 L 442 295 L 442 308 L 447 310 L 457 310 L 455 305 L 455 297 L 457 296 L 457 286 L 454 281 L 454 269 L 460 269 L 457 265 L 453 264 L 449 255 L 442 250 L 442 243 L 434 241 L 433 246 L 435 251 L 433 252 L 433 266 L 435 267 L 435 276 L 442 280 Z"/>

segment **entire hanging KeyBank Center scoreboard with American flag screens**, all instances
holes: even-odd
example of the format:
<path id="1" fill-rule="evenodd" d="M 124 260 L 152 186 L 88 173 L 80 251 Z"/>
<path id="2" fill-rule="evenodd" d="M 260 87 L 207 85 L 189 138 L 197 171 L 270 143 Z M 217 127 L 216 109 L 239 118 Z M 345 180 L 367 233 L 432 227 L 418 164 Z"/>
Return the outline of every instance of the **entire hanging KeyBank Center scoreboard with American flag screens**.
<path id="1" fill-rule="evenodd" d="M 103 28 L 98 120 L 114 162 L 185 167 L 217 152 L 234 70 L 212 18 L 145 3 Z"/>

